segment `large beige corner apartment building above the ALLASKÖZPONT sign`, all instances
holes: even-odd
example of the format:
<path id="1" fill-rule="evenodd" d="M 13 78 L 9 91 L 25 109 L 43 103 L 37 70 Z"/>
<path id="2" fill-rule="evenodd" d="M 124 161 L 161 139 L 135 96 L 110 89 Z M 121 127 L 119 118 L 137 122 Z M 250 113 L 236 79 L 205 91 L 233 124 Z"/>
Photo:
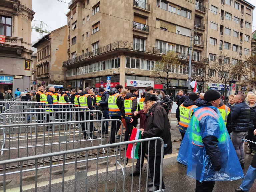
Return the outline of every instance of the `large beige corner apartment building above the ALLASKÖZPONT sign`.
<path id="1" fill-rule="evenodd" d="M 172 93 L 187 89 L 191 34 L 195 73 L 208 64 L 210 53 L 219 53 L 219 47 L 208 48 L 209 7 L 206 0 L 70 1 L 66 14 L 67 60 L 63 62 L 67 87 L 97 90 L 101 84 L 106 87 L 107 76 L 111 76 L 111 87 L 120 83 L 135 85 L 140 91 L 149 84 L 166 88 L 152 77 L 152 71 L 162 55 L 171 50 L 177 53 L 180 64 L 172 66 L 171 78 L 179 75 L 169 89 Z M 252 15 L 245 20 L 252 23 Z"/>

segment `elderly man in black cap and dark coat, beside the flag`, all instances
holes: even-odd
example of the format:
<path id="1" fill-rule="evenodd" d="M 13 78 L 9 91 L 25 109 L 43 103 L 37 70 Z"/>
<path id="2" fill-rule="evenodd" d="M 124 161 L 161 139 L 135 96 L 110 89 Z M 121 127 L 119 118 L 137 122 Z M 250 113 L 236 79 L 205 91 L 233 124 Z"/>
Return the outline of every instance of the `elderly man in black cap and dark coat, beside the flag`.
<path id="1" fill-rule="evenodd" d="M 146 127 L 147 130 L 140 129 L 144 138 L 160 137 L 163 139 L 164 144 L 167 146 L 164 148 L 164 155 L 172 153 L 172 141 L 170 134 L 170 123 L 165 109 L 160 103 L 156 102 L 157 98 L 154 94 L 147 94 L 145 96 L 143 109 L 146 113 Z M 146 144 L 146 148 L 148 145 Z M 156 150 L 156 162 L 155 159 Z M 153 182 L 148 183 L 148 191 L 156 191 L 160 185 L 160 164 L 161 164 L 161 142 L 157 141 L 156 149 L 154 141 L 150 142 L 150 148 L 146 149 L 148 152 L 149 170 L 151 178 L 155 178 L 154 186 Z M 155 166 L 155 172 L 154 172 Z M 162 180 L 162 189 L 165 189 L 164 181 Z"/>

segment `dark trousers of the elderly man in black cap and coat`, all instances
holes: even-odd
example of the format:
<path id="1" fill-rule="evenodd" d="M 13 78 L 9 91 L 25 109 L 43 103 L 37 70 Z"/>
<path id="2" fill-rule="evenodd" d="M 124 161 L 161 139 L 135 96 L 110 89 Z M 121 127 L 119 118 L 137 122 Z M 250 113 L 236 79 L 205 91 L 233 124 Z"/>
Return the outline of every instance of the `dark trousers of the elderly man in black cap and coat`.
<path id="1" fill-rule="evenodd" d="M 152 182 L 153 182 L 153 178 L 155 177 L 155 183 L 154 184 L 159 189 L 161 156 L 156 156 L 156 163 L 154 161 L 155 161 L 155 156 L 149 155 L 148 156 L 148 165 L 149 165 L 151 179 L 152 179 Z M 154 173 L 154 167 L 155 167 L 155 173 Z M 162 188 L 164 188 L 163 178 L 162 178 Z"/>

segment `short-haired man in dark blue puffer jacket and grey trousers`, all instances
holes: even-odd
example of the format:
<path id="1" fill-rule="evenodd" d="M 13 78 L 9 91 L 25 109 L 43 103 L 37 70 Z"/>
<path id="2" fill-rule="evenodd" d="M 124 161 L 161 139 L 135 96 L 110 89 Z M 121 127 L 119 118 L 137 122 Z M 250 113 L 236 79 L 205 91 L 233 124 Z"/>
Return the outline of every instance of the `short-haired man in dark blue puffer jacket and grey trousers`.
<path id="1" fill-rule="evenodd" d="M 250 125 L 250 107 L 245 103 L 245 95 L 239 93 L 235 98 L 235 105 L 232 108 L 232 133 L 231 141 L 236 150 L 237 157 L 240 161 L 242 169 L 244 169 L 244 148 L 243 139 L 247 135 Z"/>

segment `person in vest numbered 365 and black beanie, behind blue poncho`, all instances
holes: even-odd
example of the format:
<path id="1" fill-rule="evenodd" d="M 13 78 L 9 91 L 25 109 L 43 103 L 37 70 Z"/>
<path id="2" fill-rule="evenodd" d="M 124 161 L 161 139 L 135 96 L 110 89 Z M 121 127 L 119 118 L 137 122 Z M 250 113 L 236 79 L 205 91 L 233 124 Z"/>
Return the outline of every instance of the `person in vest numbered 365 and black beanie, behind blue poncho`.
<path id="1" fill-rule="evenodd" d="M 188 99 L 186 99 L 180 105 L 180 122 L 179 122 L 179 131 L 181 134 L 181 139 L 183 139 L 186 130 L 188 128 L 188 124 L 190 119 L 194 113 L 194 108 L 196 108 L 196 100 L 198 99 L 198 95 L 196 93 L 190 93 Z"/>

